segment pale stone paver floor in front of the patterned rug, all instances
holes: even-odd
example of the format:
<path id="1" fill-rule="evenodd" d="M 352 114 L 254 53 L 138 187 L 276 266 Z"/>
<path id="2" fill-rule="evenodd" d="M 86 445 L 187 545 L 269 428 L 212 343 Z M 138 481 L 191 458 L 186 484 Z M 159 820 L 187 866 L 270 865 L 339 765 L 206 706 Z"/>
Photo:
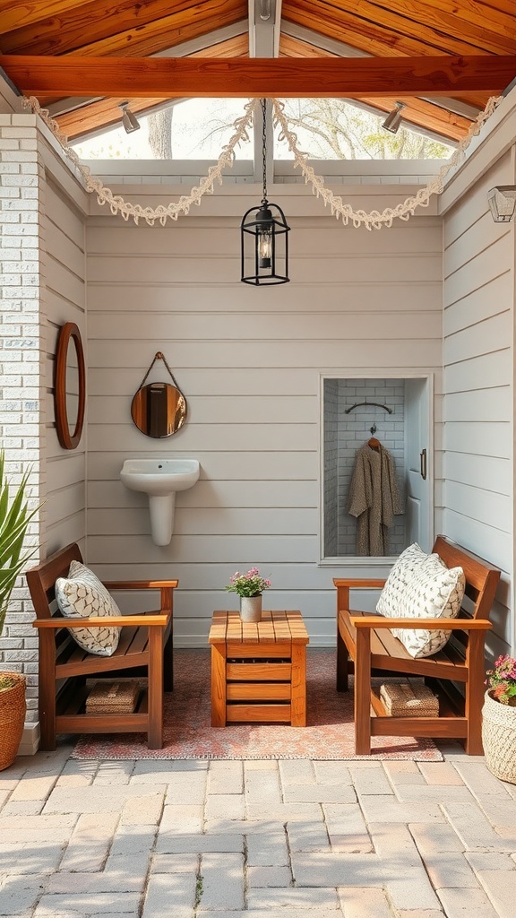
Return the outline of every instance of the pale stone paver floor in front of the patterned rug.
<path id="1" fill-rule="evenodd" d="M 71 759 L 0 773 L 0 915 L 513 918 L 516 785 L 436 763 Z"/>

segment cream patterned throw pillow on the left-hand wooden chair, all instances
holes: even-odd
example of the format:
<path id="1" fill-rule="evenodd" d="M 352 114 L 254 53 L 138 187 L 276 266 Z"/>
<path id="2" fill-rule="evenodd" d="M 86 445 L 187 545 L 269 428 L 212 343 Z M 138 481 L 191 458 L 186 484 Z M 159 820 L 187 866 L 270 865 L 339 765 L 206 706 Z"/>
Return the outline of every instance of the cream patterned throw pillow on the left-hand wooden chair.
<path id="1" fill-rule="evenodd" d="M 55 585 L 57 604 L 66 618 L 90 618 L 121 615 L 108 590 L 89 567 L 79 561 L 70 565 L 68 577 L 58 577 Z M 120 629 L 106 625 L 91 628 L 69 628 L 73 638 L 89 654 L 111 656 L 118 647 Z"/>

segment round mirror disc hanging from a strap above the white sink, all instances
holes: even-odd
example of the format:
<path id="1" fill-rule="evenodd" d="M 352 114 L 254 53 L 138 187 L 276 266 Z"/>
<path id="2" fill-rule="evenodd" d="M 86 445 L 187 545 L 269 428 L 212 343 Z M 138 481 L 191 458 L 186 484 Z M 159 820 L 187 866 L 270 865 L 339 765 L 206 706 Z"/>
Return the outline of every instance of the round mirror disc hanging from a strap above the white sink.
<path id="1" fill-rule="evenodd" d="M 186 399 L 170 383 L 141 386 L 132 399 L 131 418 L 148 437 L 170 437 L 185 423 Z"/>

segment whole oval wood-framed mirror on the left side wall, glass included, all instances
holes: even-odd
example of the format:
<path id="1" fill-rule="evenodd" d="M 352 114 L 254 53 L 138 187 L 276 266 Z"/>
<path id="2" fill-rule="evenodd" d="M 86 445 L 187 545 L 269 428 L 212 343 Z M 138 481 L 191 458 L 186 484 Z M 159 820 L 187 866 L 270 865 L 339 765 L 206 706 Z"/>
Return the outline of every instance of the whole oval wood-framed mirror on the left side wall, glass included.
<path id="1" fill-rule="evenodd" d="M 63 449 L 74 450 L 83 432 L 86 401 L 81 332 L 65 322 L 57 342 L 54 373 L 54 409 L 58 440 Z"/>

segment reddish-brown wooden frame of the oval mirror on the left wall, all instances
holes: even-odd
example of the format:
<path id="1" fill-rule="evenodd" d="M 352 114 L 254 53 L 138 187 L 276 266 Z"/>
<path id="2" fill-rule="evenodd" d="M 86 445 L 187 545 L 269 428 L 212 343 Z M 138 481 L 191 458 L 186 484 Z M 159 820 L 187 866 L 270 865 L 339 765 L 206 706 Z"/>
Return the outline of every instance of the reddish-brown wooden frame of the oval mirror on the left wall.
<path id="1" fill-rule="evenodd" d="M 68 352 L 72 342 L 77 356 L 79 383 L 77 420 L 75 421 L 73 432 L 70 430 L 66 406 L 66 370 L 68 367 Z M 79 445 L 83 432 L 85 403 L 86 371 L 84 367 L 84 351 L 81 332 L 75 325 L 75 322 L 65 322 L 64 325 L 62 325 L 57 341 L 54 372 L 55 422 L 58 440 L 65 450 L 74 450 L 75 447 Z"/>

